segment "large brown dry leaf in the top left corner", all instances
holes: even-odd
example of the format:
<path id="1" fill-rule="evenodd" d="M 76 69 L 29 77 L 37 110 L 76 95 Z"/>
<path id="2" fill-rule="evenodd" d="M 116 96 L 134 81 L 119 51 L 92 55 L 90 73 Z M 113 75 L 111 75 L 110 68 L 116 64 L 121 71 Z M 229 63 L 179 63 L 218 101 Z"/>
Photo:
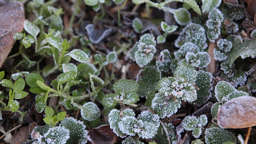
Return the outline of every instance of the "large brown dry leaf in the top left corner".
<path id="1" fill-rule="evenodd" d="M 19 1 L 0 4 L 0 68 L 15 42 L 13 35 L 21 32 L 25 21 L 24 6 Z"/>

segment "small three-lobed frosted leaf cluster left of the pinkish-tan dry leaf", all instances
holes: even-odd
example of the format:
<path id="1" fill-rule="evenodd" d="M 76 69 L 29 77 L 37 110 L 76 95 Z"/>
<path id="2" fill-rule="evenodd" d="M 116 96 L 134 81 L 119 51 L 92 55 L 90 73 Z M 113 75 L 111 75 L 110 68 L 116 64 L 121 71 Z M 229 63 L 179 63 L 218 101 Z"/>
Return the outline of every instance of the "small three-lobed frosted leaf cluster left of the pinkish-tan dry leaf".
<path id="1" fill-rule="evenodd" d="M 195 116 L 186 116 L 182 120 L 182 125 L 186 131 L 192 131 L 194 138 L 199 138 L 202 134 L 202 128 L 207 124 L 208 119 L 206 115 L 200 115 L 199 118 Z"/>

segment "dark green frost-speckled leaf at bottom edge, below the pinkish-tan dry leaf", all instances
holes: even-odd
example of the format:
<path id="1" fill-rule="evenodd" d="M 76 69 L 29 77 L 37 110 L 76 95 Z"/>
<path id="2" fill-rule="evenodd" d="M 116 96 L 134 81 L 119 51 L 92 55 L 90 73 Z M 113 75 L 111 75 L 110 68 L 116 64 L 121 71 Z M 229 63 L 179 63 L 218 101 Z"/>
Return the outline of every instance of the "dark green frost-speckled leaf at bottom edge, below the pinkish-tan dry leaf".
<path id="1" fill-rule="evenodd" d="M 223 142 L 230 141 L 236 143 L 234 134 L 219 127 L 210 127 L 205 131 L 206 144 L 222 144 Z"/>

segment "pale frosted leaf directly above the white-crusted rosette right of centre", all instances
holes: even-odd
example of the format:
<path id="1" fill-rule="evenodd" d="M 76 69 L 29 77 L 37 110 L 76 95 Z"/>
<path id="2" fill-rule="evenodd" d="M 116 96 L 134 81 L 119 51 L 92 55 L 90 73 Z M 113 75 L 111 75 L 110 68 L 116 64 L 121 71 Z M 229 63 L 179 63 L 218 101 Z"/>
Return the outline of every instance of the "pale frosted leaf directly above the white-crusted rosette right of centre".
<path id="1" fill-rule="evenodd" d="M 175 77 L 185 77 L 189 83 L 195 84 L 197 71 L 193 66 L 182 62 L 178 65 L 174 75 Z"/>

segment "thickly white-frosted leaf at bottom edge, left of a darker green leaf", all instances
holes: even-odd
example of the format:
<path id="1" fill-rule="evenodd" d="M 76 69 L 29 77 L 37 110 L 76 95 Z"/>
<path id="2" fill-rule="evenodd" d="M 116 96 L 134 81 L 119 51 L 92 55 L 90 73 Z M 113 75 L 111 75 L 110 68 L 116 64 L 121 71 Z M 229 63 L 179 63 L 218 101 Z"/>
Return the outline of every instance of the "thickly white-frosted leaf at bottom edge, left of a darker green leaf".
<path id="1" fill-rule="evenodd" d="M 52 127 L 43 135 L 47 144 L 65 144 L 70 138 L 69 130 L 65 127 Z"/>

